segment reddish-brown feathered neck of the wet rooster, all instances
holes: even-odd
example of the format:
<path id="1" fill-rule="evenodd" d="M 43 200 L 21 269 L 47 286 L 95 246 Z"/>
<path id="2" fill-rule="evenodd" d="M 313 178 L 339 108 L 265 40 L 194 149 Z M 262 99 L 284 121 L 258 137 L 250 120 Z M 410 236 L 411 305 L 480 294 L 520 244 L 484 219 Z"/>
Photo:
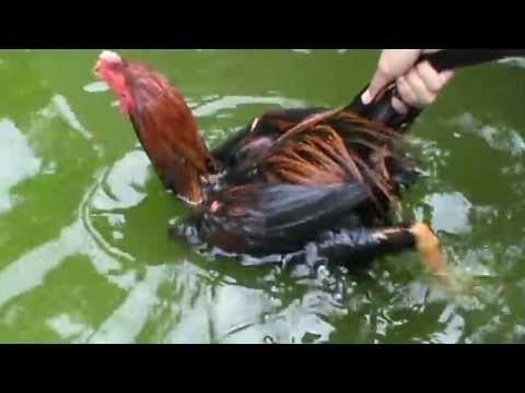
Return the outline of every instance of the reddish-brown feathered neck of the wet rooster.
<path id="1" fill-rule="evenodd" d="M 191 110 L 163 75 L 145 66 L 128 61 L 125 75 L 136 103 L 133 126 L 155 170 L 178 195 L 200 202 L 201 177 L 214 165 Z"/>

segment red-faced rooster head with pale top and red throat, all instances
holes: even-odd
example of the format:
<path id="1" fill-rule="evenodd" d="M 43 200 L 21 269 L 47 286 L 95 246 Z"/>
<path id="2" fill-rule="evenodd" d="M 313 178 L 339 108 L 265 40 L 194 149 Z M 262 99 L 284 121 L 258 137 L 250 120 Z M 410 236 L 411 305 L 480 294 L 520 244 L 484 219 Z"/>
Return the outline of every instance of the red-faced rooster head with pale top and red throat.
<path id="1" fill-rule="evenodd" d="M 118 97 L 122 112 L 129 115 L 133 110 L 135 103 L 126 80 L 126 61 L 119 55 L 104 50 L 98 56 L 94 72 Z"/>

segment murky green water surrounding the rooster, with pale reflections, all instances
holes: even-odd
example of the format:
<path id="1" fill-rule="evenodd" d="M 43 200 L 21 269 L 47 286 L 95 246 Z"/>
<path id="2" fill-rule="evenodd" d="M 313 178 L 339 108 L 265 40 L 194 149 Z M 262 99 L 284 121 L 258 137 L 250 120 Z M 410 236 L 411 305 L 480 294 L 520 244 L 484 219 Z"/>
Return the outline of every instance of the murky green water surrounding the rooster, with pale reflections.
<path id="1" fill-rule="evenodd" d="M 377 51 L 124 51 L 165 73 L 210 145 L 261 111 L 337 106 Z M 98 51 L 0 51 L 0 342 L 516 343 L 525 337 L 525 70 L 460 71 L 413 127 L 407 218 L 474 278 L 444 290 L 415 253 L 364 276 L 246 267 L 168 240 L 166 194 Z"/>

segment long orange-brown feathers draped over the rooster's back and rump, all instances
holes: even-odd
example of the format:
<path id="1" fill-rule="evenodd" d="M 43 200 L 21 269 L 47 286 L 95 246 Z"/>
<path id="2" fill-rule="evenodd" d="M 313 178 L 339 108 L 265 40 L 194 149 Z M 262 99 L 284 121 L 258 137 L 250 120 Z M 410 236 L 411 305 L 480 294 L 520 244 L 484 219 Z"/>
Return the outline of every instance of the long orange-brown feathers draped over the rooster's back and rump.
<path id="1" fill-rule="evenodd" d="M 305 119 L 281 135 L 259 169 L 267 181 L 311 186 L 355 181 L 378 205 L 369 180 L 388 200 L 395 199 L 385 166 L 385 146 L 400 138 L 396 130 L 347 109 L 329 110 Z M 368 148 L 369 153 L 360 156 L 352 144 Z M 372 164 L 376 170 L 371 168 Z"/>

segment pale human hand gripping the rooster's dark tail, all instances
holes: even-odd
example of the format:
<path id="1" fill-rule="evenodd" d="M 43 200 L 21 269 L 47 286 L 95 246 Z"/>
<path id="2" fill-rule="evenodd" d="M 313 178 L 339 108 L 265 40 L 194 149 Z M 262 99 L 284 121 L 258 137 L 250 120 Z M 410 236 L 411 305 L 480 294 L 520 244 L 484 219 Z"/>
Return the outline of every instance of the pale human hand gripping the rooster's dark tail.
<path id="1" fill-rule="evenodd" d="M 399 100 L 393 98 L 393 107 L 405 114 L 410 105 L 423 108 L 432 104 L 443 87 L 454 78 L 454 71 L 436 72 L 428 61 L 415 67 L 422 53 L 432 53 L 441 49 L 385 49 L 377 71 L 366 92 L 362 95 L 363 104 L 370 104 L 377 93 L 390 82 L 396 81 Z M 406 104 L 406 105 L 405 105 Z"/>

